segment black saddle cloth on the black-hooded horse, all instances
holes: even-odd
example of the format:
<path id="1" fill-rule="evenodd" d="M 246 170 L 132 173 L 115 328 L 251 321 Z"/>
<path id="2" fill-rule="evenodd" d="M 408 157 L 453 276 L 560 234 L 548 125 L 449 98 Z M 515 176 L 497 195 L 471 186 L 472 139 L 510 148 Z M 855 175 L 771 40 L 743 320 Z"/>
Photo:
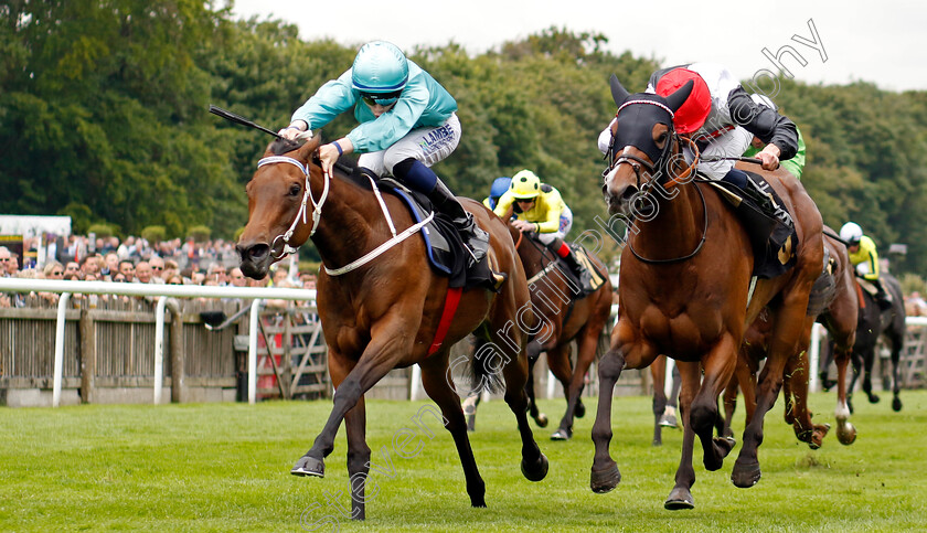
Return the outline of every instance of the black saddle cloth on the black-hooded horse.
<path id="1" fill-rule="evenodd" d="M 754 250 L 753 275 L 781 276 L 795 266 L 798 234 L 795 221 L 776 190 L 759 174 L 747 174 L 747 188 L 726 181 L 708 181 L 731 203 L 750 238 Z"/>

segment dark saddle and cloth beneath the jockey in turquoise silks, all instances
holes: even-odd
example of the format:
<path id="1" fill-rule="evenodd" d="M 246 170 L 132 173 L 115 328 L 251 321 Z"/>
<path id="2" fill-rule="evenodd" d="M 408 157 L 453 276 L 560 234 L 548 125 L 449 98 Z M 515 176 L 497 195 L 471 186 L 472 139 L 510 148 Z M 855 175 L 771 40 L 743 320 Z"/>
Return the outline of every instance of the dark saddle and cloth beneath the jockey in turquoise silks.
<path id="1" fill-rule="evenodd" d="M 443 213 L 435 211 L 425 194 L 413 191 L 392 178 L 380 178 L 369 169 L 356 168 L 352 177 L 373 178 L 381 191 L 393 194 L 403 201 L 415 223 L 420 223 L 433 212 L 434 217 L 419 232 L 425 242 L 428 264 L 436 273 L 448 278 L 448 288 L 473 287 L 498 290 L 498 280 L 489 267 L 488 255 L 471 268 L 467 268 L 470 253 L 464 245 L 454 222 Z M 367 182 L 369 185 L 369 182 Z"/>

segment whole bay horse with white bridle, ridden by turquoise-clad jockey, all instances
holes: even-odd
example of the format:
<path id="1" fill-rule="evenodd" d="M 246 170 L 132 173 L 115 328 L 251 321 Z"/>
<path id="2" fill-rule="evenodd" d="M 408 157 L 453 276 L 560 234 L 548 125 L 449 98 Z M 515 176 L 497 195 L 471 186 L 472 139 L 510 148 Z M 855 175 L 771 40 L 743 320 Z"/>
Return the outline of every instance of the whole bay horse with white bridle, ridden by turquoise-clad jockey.
<path id="1" fill-rule="evenodd" d="M 535 327 L 536 319 L 508 227 L 480 203 L 460 199 L 477 224 L 489 232 L 490 264 L 493 270 L 508 275 L 508 280 L 498 294 L 482 288 L 464 290 L 447 326 L 441 317 L 448 278 L 429 267 L 423 239 L 412 231 L 416 223 L 407 209 L 394 195 L 374 194 L 373 185 L 364 186 L 363 180 L 352 179 L 339 166 L 333 175 L 323 173 L 318 161 L 319 143 L 317 135 L 284 154 L 277 154 L 284 150 L 274 143 L 267 148 L 247 184 L 248 223 L 237 244 L 242 271 L 253 278 L 262 278 L 286 250 L 310 237 L 324 264 L 316 290 L 335 393 L 324 427 L 291 473 L 323 477 L 324 458 L 331 454 L 344 420 L 352 518 L 363 520 L 364 484 L 371 466 L 364 393 L 391 370 L 418 364 L 425 391 L 440 407 L 441 422 L 457 446 L 470 503 L 486 507 L 486 484 L 448 370 L 450 347 L 478 330 L 483 341 L 491 341 L 488 345 L 493 350 L 478 351 L 471 361 L 472 371 L 481 380 L 497 382 L 501 372 L 504 398 L 515 414 L 521 435 L 522 473 L 540 481 L 546 476 L 547 459 L 529 426 L 524 392 L 526 331 Z M 311 205 L 307 206 L 307 200 Z M 408 235 L 414 238 L 404 238 Z M 384 252 L 391 243 L 394 246 Z M 439 323 L 445 323 L 447 331 L 437 345 Z"/>

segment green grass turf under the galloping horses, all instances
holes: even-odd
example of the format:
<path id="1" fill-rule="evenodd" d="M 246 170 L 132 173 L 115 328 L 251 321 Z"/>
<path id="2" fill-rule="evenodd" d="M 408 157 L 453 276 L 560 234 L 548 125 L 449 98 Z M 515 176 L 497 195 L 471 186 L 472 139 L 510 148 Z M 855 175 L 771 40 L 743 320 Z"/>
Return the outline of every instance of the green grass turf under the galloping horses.
<path id="1" fill-rule="evenodd" d="M 615 399 L 612 457 L 622 481 L 607 494 L 589 490 L 595 403 L 587 399 L 574 439 L 553 443 L 534 429 L 551 461 L 532 483 L 519 470 L 514 417 L 503 402 L 480 406 L 471 434 L 488 509 L 472 509 L 447 431 L 426 417 L 434 439 L 416 457 L 393 450 L 393 436 L 416 428 L 429 402 L 372 401 L 367 443 L 373 462 L 391 454 L 393 472 L 372 471 L 367 521 L 344 531 L 924 531 L 927 522 L 927 391 L 903 392 L 902 413 L 887 398 L 856 395 L 859 438 L 842 446 L 832 429 L 820 450 L 798 443 L 782 422 L 782 402 L 766 419 L 763 479 L 737 489 L 731 469 L 707 472 L 695 447 L 695 509 L 665 511 L 682 433 L 651 446 L 650 398 Z M 816 394 L 816 420 L 832 422 L 835 396 Z M 563 401 L 542 401 L 556 424 Z M 339 433 L 324 479 L 289 470 L 328 417 L 322 402 L 0 408 L 0 531 L 153 530 L 302 531 L 337 515 L 326 493 L 349 504 L 345 440 Z M 419 435 L 423 435 L 419 429 Z M 416 440 L 413 440 L 413 444 Z M 374 487 L 375 486 L 375 487 Z M 375 493 L 374 493 L 375 490 Z M 318 531 L 331 531 L 327 524 Z"/>

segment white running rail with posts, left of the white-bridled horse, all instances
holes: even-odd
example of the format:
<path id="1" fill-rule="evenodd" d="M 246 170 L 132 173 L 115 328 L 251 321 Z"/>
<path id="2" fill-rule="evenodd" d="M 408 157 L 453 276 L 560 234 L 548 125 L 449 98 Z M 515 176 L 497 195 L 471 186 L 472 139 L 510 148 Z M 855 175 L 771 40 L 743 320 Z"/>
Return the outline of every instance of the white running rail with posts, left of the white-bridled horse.
<path id="1" fill-rule="evenodd" d="M 111 281 L 63 281 L 55 279 L 0 278 L 0 292 L 61 292 L 58 300 L 57 322 L 55 324 L 55 367 L 52 391 L 52 405 L 61 405 L 61 382 L 64 362 L 64 318 L 67 300 L 72 294 L 81 295 L 119 295 L 119 296 L 157 296 L 158 300 L 154 326 L 154 403 L 161 401 L 161 383 L 163 383 L 163 332 L 166 297 L 182 298 L 244 298 L 254 299 L 251 311 L 251 330 L 248 331 L 248 403 L 254 404 L 257 395 L 257 311 L 260 299 L 275 300 L 315 300 L 316 291 L 311 289 L 290 288 L 257 288 L 257 287 L 215 287 L 201 285 L 151 285 L 151 284 L 115 284 Z"/>

